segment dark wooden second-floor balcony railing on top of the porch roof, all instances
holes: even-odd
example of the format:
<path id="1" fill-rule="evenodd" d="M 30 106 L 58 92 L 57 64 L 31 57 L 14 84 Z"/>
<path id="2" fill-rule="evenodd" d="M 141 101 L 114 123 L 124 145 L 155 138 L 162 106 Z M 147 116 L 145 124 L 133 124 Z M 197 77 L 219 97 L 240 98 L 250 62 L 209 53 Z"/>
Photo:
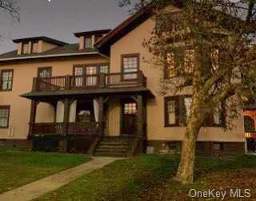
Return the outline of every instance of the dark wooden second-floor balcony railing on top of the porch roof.
<path id="1" fill-rule="evenodd" d="M 86 76 L 34 77 L 33 91 L 146 87 L 142 71 Z"/>

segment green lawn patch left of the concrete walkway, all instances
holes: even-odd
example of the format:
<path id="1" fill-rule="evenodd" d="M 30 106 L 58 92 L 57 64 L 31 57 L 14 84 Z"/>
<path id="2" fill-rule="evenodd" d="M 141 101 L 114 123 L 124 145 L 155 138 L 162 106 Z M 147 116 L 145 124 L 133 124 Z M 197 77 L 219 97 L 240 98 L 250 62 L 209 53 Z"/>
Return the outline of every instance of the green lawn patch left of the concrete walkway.
<path id="1" fill-rule="evenodd" d="M 22 152 L 0 146 L 0 193 L 89 160 L 78 155 Z"/>

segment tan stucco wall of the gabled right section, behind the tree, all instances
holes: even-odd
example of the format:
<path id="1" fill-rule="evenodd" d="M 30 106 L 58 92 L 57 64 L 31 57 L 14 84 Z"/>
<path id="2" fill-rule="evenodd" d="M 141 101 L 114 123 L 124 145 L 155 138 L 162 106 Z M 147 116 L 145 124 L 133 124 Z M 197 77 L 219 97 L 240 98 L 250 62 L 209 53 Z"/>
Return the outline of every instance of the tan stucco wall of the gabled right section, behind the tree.
<path id="1" fill-rule="evenodd" d="M 186 128 L 164 127 L 164 98 L 159 93 L 163 70 L 161 66 L 154 65 L 154 61 L 151 61 L 152 55 L 142 46 L 144 39 L 150 38 L 153 28 L 154 21 L 149 19 L 114 43 L 111 46 L 110 71 L 121 72 L 122 54 L 139 53 L 140 69 L 147 78 L 147 88 L 155 96 L 155 99 L 147 102 L 148 140 L 182 140 Z M 244 141 L 243 117 L 235 124 L 236 128 L 232 132 L 223 132 L 222 128 L 202 128 L 198 140 Z"/>

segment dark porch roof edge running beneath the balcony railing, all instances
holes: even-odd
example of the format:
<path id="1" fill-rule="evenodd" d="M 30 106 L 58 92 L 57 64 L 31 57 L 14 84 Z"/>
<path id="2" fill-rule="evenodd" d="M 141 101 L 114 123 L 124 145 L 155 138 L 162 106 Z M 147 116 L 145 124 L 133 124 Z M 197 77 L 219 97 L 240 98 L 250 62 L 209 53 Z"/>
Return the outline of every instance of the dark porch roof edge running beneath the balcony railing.
<path id="1" fill-rule="evenodd" d="M 143 94 L 148 98 L 154 98 L 154 94 L 144 87 L 141 88 L 122 88 L 122 89 L 84 89 L 84 90 L 58 90 L 58 91 L 42 91 L 42 92 L 31 92 L 24 93 L 20 97 L 24 97 L 31 100 L 40 99 L 55 99 L 57 97 L 96 97 L 106 95 L 117 95 L 117 94 Z"/>

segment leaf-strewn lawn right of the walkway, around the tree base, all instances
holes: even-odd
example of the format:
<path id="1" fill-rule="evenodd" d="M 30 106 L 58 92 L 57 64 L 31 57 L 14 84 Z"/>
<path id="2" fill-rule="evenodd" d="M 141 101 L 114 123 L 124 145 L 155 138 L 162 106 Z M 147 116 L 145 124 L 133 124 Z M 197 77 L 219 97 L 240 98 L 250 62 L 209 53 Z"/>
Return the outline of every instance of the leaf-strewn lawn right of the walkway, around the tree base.
<path id="1" fill-rule="evenodd" d="M 172 179 L 178 160 L 164 155 L 118 160 L 36 200 L 190 200 L 191 187 L 256 189 L 256 156 L 198 157 L 193 185 Z"/>

